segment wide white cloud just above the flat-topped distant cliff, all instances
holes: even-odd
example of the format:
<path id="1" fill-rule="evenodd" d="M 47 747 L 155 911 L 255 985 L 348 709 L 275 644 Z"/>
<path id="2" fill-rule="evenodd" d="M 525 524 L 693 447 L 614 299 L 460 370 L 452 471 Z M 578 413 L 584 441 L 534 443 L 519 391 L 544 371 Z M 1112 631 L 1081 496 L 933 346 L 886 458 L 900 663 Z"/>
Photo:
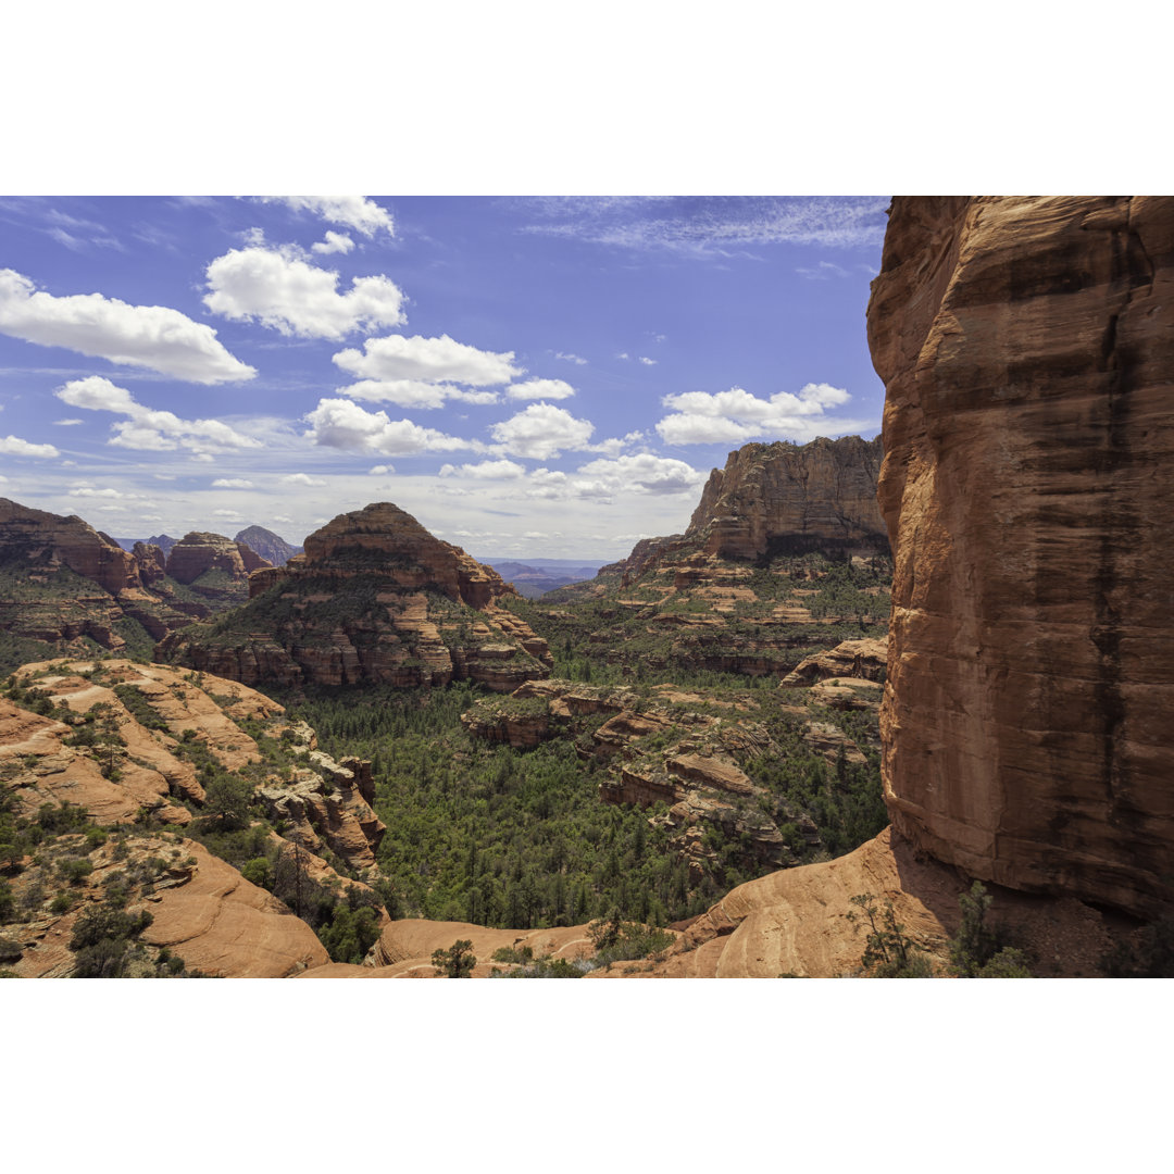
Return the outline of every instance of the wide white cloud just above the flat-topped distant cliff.
<path id="1" fill-rule="evenodd" d="M 866 426 L 866 421 L 826 414 L 828 409 L 838 407 L 850 398 L 843 387 L 826 383 L 809 383 L 797 396 L 780 391 L 769 399 L 751 396 L 742 387 L 714 394 L 687 391 L 661 400 L 676 412 L 660 420 L 656 431 L 667 444 L 741 444 L 754 437 L 805 441 L 821 431 L 845 432 Z"/>

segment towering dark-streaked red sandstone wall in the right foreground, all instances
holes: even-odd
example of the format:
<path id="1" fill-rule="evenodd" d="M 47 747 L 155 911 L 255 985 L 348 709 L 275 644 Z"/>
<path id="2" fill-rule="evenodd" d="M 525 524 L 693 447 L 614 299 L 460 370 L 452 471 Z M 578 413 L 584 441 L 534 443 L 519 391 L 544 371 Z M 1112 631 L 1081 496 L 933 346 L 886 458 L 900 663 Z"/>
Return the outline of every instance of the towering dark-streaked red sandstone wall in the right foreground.
<path id="1" fill-rule="evenodd" d="M 900 198 L 869 306 L 895 826 L 1016 889 L 1174 900 L 1174 201 Z"/>

